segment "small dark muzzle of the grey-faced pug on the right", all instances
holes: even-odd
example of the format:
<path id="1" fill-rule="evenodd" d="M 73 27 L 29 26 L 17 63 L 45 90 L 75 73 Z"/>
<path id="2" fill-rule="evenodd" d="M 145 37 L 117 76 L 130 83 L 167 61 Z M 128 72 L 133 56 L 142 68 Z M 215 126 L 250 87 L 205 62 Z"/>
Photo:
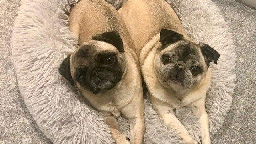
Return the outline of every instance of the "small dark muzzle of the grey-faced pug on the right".
<path id="1" fill-rule="evenodd" d="M 184 66 L 177 64 L 169 72 L 171 80 L 180 80 L 183 81 L 185 78 L 185 68 Z"/>

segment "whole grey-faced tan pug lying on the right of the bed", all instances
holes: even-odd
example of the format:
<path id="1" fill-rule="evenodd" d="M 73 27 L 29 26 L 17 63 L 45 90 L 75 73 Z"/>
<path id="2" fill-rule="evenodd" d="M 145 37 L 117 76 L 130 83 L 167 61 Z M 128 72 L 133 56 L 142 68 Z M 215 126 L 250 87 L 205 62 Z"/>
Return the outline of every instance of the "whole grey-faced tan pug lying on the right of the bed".
<path id="1" fill-rule="evenodd" d="M 212 77 L 209 66 L 217 64 L 220 54 L 194 42 L 164 0 L 127 0 L 119 13 L 134 40 L 154 110 L 178 130 L 184 143 L 196 144 L 175 116 L 176 108 L 190 107 L 201 123 L 202 144 L 210 144 L 205 99 Z"/>

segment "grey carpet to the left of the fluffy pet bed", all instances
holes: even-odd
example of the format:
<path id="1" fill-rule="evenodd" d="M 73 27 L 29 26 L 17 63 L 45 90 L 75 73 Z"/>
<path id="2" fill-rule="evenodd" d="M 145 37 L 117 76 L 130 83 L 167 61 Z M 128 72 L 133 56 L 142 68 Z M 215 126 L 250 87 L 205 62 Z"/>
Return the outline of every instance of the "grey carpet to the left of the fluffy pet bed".
<path id="1" fill-rule="evenodd" d="M 48 144 L 18 91 L 11 60 L 12 26 L 21 0 L 0 0 L 0 144 Z"/>

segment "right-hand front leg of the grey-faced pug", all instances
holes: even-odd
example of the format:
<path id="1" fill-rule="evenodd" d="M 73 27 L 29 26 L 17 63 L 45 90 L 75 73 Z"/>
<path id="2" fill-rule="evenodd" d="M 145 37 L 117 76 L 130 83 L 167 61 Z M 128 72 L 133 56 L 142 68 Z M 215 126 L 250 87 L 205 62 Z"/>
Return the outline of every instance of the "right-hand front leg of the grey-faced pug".
<path id="1" fill-rule="evenodd" d="M 201 141 L 202 144 L 210 144 L 210 131 L 209 131 L 209 118 L 208 114 L 205 110 L 205 98 L 202 98 L 196 102 L 194 102 L 196 108 L 193 110 L 193 113 L 199 118 L 201 123 Z"/>

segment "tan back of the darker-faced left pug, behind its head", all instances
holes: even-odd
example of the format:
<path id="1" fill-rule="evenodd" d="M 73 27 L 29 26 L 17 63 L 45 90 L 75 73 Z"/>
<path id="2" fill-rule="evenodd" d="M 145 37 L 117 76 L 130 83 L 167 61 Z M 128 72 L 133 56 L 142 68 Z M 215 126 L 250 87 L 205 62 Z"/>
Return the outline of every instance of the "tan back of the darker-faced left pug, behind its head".
<path id="1" fill-rule="evenodd" d="M 134 49 L 132 38 L 120 15 L 104 0 L 81 0 L 72 8 L 68 18 L 70 30 L 79 44 L 87 42 L 96 34 L 116 30 L 126 45 L 124 49 Z"/>

